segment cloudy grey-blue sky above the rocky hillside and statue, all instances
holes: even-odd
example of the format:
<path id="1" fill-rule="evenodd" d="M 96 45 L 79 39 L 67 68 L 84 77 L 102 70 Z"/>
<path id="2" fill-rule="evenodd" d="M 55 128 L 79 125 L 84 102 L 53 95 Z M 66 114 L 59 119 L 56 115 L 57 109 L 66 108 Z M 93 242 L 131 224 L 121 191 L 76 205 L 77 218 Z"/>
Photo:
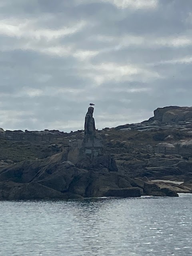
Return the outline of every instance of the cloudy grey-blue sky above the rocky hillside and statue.
<path id="1" fill-rule="evenodd" d="M 84 129 L 192 106 L 192 0 L 0 0 L 0 127 Z"/>

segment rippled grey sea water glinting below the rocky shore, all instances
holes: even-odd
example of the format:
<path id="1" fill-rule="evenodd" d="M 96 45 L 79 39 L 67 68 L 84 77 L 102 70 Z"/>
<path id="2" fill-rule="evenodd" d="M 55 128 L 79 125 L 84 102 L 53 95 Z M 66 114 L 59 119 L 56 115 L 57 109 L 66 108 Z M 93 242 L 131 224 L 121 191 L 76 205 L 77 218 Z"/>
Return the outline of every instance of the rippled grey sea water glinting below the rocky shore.
<path id="1" fill-rule="evenodd" d="M 0 202 L 0 256 L 190 256 L 192 195 Z"/>

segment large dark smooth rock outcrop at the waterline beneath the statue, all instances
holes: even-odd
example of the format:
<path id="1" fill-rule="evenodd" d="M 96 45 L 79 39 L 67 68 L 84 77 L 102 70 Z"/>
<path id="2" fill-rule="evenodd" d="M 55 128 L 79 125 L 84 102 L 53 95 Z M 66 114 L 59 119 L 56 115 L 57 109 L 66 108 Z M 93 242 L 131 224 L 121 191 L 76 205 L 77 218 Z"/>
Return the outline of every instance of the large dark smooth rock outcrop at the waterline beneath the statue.
<path id="1" fill-rule="evenodd" d="M 80 169 L 69 161 L 63 161 L 63 155 L 59 155 L 62 153 L 4 168 L 0 172 L 0 200 L 132 197 L 154 195 L 154 186 L 155 191 L 158 188 L 155 184 L 131 179 L 107 168 Z M 158 196 L 169 196 L 169 193 L 159 193 Z"/>

